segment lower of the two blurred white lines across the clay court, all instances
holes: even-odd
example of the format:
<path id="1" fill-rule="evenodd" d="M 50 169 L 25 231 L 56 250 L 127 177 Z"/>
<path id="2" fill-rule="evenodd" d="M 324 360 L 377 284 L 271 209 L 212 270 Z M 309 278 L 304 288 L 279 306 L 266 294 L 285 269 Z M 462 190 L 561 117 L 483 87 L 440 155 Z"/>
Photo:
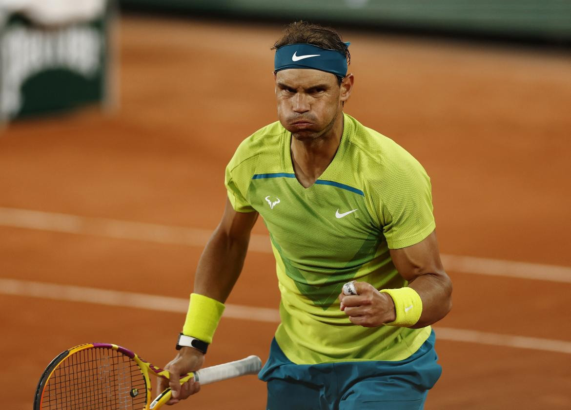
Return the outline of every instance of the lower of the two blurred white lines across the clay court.
<path id="1" fill-rule="evenodd" d="M 6 278 L 0 278 L 0 294 L 174 313 L 184 313 L 188 308 L 188 300 L 183 298 Z M 256 322 L 279 323 L 280 321 L 277 309 L 232 304 L 226 304 L 223 316 Z M 435 327 L 435 331 L 441 340 L 571 354 L 571 342 L 567 341 L 451 329 L 449 327 Z"/>

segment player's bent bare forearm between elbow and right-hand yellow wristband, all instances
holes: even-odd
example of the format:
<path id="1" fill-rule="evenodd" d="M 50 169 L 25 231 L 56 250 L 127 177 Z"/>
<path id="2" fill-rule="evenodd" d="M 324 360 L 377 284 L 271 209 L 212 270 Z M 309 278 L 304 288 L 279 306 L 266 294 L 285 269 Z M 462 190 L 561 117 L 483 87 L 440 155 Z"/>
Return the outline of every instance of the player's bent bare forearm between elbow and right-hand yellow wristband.
<path id="1" fill-rule="evenodd" d="M 452 281 L 447 274 L 425 273 L 415 278 L 409 288 L 416 290 L 423 301 L 423 312 L 414 329 L 432 325 L 452 309 Z"/>

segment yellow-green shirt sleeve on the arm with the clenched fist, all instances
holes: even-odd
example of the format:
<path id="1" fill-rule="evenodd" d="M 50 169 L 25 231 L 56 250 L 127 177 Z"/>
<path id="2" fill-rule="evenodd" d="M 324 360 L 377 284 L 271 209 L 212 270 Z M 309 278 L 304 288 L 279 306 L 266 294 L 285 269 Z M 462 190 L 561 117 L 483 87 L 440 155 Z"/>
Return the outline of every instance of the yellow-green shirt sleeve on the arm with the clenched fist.
<path id="1" fill-rule="evenodd" d="M 431 189 L 430 178 L 415 159 L 406 167 L 397 167 L 385 180 L 380 218 L 390 249 L 415 245 L 435 229 Z"/>

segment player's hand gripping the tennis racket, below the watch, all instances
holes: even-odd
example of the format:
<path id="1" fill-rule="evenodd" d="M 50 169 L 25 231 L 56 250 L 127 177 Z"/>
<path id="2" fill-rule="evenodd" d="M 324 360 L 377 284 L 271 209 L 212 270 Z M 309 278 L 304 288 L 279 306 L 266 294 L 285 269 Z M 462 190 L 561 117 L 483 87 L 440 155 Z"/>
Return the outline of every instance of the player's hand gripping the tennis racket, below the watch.
<path id="1" fill-rule="evenodd" d="M 159 379 L 157 391 L 160 393 L 167 387 L 171 388 L 172 397 L 167 401 L 167 405 L 178 403 L 188 396 L 200 391 L 200 383 L 194 378 L 182 385 L 179 382 L 180 375 L 199 370 L 204 364 L 204 354 L 192 347 L 182 347 L 174 359 L 168 362 L 164 370 L 170 373 L 170 379 Z"/>

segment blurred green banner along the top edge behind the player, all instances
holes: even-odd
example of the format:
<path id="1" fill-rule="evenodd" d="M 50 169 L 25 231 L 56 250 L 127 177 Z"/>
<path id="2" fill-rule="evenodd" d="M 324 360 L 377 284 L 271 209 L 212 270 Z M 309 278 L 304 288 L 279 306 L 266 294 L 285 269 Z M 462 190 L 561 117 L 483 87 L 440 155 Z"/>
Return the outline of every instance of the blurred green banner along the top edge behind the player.
<path id="1" fill-rule="evenodd" d="M 138 9 L 568 42 L 569 0 L 120 0 Z"/>

